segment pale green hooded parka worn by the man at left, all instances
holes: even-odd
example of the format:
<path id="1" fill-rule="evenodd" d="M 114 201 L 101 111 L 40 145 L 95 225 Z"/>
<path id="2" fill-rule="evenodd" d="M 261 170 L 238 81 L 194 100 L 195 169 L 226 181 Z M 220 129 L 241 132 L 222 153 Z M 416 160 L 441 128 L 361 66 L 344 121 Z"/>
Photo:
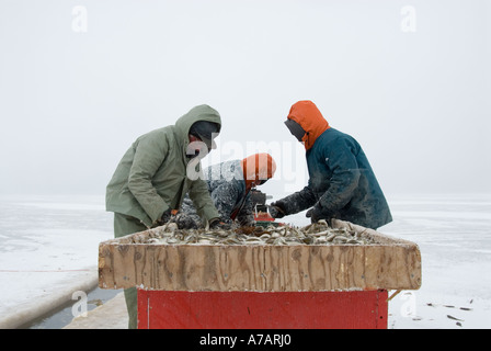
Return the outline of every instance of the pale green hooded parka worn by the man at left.
<path id="1" fill-rule="evenodd" d="M 206 183 L 199 178 L 192 180 L 196 177 L 186 177 L 189 132 L 197 121 L 221 125 L 217 111 L 208 105 L 198 105 L 174 125 L 136 139 L 106 188 L 106 211 L 138 218 L 147 227 L 152 227 L 168 208 L 179 210 L 189 192 L 202 218 L 219 217 Z M 199 163 L 196 170 L 201 171 Z"/>

